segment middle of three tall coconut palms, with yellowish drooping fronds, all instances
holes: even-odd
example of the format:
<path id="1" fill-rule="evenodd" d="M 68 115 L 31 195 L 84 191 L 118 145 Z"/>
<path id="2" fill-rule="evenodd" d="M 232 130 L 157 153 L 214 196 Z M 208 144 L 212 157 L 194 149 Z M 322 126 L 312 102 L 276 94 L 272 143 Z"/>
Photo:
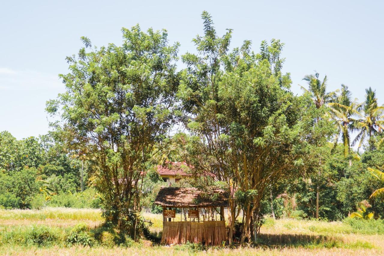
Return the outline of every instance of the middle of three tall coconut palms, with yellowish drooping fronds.
<path id="1" fill-rule="evenodd" d="M 360 116 L 362 104 L 351 100 L 352 93 L 348 86 L 341 85 L 341 93 L 328 103 L 331 116 L 335 120 L 335 126 L 339 133 L 334 138 L 333 149 L 336 148 L 339 139 L 344 146 L 344 157 L 349 158 L 349 166 L 352 165 L 350 133 L 362 128 L 361 123 L 356 119 Z"/>

